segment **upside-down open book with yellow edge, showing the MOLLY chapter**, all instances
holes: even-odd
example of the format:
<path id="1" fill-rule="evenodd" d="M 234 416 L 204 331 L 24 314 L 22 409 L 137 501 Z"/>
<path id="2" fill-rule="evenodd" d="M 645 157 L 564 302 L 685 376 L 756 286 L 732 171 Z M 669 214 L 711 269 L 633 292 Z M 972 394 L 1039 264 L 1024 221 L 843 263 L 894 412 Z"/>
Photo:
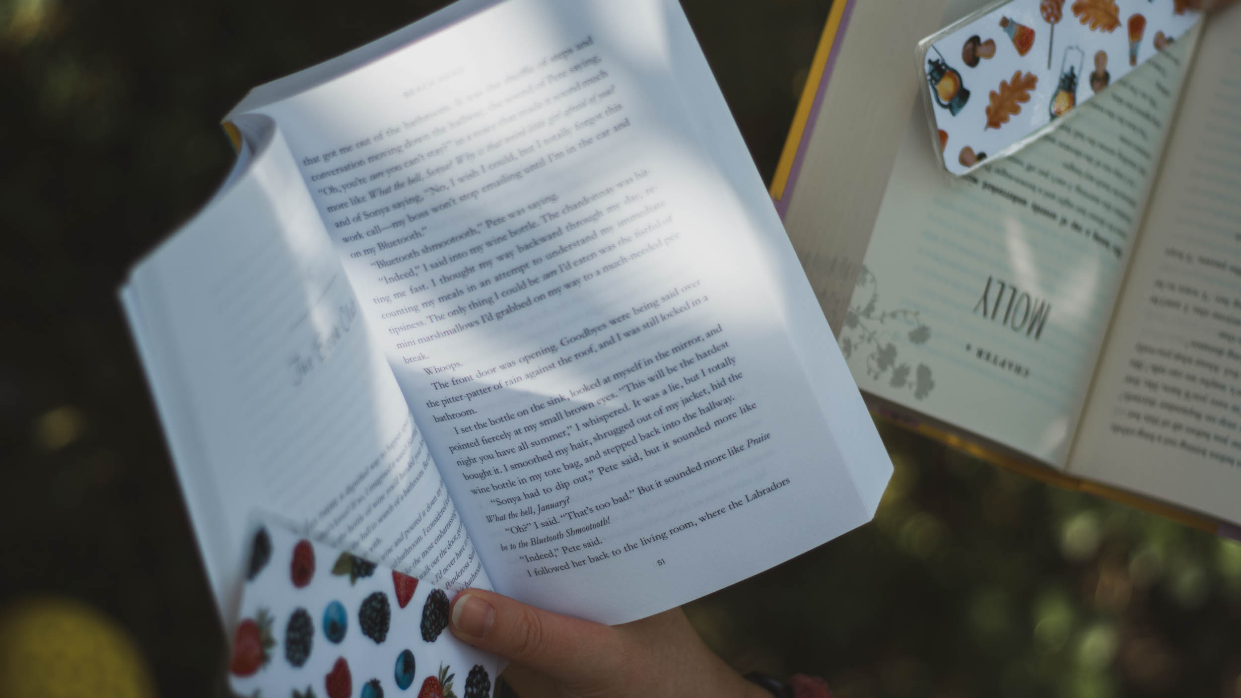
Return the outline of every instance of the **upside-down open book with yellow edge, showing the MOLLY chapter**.
<path id="1" fill-rule="evenodd" d="M 1241 522 L 1241 6 L 1122 81 L 1083 78 L 1098 94 L 1056 130 L 954 179 L 911 55 L 980 5 L 840 4 L 777 173 L 854 378 L 879 410 L 997 462 L 1226 533 Z M 1069 5 L 1062 21 L 1078 21 Z M 1049 35 L 1035 26 L 1035 47 Z M 1123 56 L 1129 37 L 1113 41 Z"/>

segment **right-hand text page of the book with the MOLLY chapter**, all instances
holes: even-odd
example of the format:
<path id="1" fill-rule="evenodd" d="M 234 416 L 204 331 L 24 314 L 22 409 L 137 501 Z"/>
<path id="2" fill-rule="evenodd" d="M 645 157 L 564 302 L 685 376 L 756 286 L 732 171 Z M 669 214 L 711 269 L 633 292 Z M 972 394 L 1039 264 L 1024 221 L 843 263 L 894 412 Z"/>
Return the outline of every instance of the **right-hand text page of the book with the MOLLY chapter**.
<path id="1" fill-rule="evenodd" d="M 1070 468 L 1241 522 L 1241 6 L 1205 26 Z"/>

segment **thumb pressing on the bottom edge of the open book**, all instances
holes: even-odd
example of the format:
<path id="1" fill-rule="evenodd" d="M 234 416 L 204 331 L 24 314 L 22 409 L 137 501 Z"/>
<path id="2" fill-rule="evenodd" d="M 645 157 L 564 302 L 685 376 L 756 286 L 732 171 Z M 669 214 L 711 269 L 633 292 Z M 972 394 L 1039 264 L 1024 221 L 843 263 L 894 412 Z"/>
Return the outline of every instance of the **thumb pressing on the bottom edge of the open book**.
<path id="1" fill-rule="evenodd" d="M 620 655 L 612 627 L 480 589 L 458 594 L 450 619 L 462 641 L 566 683 L 598 682 Z"/>

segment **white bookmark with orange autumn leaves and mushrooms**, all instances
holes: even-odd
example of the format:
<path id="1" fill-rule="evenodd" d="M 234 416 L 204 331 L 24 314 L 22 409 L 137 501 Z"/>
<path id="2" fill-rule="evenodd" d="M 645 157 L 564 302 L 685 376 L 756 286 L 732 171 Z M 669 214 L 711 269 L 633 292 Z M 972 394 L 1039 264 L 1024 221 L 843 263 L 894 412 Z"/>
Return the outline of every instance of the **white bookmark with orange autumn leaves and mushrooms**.
<path id="1" fill-rule="evenodd" d="M 922 40 L 944 168 L 961 175 L 1016 152 L 1200 16 L 1188 0 L 1013 0 Z"/>

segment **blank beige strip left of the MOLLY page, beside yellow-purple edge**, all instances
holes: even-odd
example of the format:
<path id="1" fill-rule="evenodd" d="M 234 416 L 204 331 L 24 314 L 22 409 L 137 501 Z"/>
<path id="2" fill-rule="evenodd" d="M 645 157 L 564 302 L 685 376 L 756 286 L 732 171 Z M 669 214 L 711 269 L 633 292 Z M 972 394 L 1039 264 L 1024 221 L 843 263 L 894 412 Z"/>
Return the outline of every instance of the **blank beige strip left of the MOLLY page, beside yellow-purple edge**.
<path id="1" fill-rule="evenodd" d="M 921 106 L 923 87 L 920 71 L 910 65 L 912 47 L 982 5 L 958 0 L 961 7 L 944 12 L 947 4 L 850 2 L 835 37 L 836 55 L 823 78 L 827 87 L 819 87 L 810 112 L 804 152 L 783 193 L 784 229 L 836 334 L 849 310 L 910 108 Z M 885 43 L 902 48 L 875 50 Z M 875 89 L 877 84 L 884 89 Z"/>

